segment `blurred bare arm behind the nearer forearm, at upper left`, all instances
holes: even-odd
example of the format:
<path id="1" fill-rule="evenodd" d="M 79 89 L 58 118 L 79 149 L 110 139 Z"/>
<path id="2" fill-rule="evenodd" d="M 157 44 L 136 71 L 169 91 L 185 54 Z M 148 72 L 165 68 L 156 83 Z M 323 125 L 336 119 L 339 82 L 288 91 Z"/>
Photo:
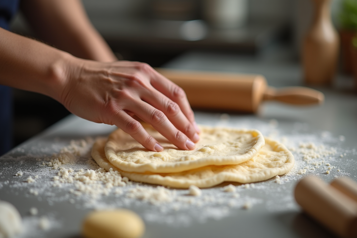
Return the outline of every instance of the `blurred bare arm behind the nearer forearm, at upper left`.
<path id="1" fill-rule="evenodd" d="M 89 60 L 117 60 L 89 21 L 79 0 L 26 0 L 21 11 L 40 39 Z"/>

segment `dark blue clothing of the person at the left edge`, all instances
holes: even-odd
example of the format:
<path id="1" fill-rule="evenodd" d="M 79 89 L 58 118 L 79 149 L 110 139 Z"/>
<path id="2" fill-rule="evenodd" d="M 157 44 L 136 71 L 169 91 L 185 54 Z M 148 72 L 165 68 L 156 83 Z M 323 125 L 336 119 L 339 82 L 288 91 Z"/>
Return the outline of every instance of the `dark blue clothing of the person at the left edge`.
<path id="1" fill-rule="evenodd" d="M 19 8 L 20 0 L 0 0 L 0 27 L 9 30 L 10 20 Z M 12 146 L 11 88 L 0 85 L 0 156 Z"/>

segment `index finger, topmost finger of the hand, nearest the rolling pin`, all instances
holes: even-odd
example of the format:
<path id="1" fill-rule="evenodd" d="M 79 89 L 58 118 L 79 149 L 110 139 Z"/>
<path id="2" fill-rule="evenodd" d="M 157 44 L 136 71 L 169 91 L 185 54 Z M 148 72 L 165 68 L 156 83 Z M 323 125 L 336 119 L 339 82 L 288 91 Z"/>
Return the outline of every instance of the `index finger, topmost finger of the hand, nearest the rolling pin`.
<path id="1" fill-rule="evenodd" d="M 166 79 L 157 71 L 155 71 L 155 75 L 151 79 L 151 85 L 156 88 L 156 90 L 164 94 L 166 97 L 176 102 L 177 105 L 181 108 L 181 111 L 186 116 L 186 118 L 195 127 L 196 132 L 200 133 L 200 129 L 197 127 L 195 122 L 194 113 L 191 109 L 190 103 L 187 100 L 186 93 L 181 87 Z"/>

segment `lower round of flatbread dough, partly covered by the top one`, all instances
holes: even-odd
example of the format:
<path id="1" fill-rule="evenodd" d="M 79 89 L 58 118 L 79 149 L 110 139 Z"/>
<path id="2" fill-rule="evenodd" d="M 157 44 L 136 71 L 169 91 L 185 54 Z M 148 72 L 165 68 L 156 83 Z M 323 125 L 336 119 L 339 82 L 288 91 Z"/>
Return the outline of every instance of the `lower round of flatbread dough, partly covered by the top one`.
<path id="1" fill-rule="evenodd" d="M 92 157 L 100 167 L 109 171 L 117 170 L 122 176 L 132 181 L 160 184 L 173 188 L 188 188 L 195 185 L 200 188 L 212 187 L 224 181 L 252 183 L 264 181 L 290 171 L 294 166 L 294 157 L 287 148 L 269 138 L 256 156 L 241 164 L 225 166 L 205 166 L 178 173 L 130 173 L 113 166 L 105 157 L 106 138 L 98 139 L 92 149 Z"/>

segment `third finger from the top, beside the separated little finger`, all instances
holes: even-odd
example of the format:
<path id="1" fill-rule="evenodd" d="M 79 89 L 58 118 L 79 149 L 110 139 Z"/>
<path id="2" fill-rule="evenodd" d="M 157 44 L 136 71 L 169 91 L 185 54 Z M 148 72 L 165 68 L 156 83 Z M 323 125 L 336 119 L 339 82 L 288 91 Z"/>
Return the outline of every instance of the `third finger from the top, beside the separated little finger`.
<path id="1" fill-rule="evenodd" d="M 131 105 L 130 111 L 134 112 L 135 115 L 140 117 L 142 120 L 151 124 L 161 135 L 166 137 L 167 140 L 178 148 L 182 150 L 193 150 L 195 148 L 195 143 L 193 143 L 190 138 L 172 125 L 162 111 L 156 109 L 148 103 L 144 101 L 135 103 L 134 105 Z"/>

